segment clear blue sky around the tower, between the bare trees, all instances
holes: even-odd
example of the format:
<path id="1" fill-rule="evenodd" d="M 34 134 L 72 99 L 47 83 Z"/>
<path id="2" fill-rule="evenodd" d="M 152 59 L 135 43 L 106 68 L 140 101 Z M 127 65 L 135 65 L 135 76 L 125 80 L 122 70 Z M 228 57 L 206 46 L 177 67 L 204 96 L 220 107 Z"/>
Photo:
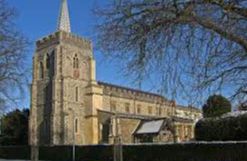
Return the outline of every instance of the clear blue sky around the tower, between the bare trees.
<path id="1" fill-rule="evenodd" d="M 56 31 L 60 0 L 7 0 L 11 7 L 17 9 L 17 27 L 31 41 L 28 50 L 27 66 L 32 67 L 32 56 L 35 50 L 35 41 Z M 92 10 L 95 5 L 105 5 L 102 0 L 68 0 L 72 32 L 76 35 L 92 40 L 95 44 L 94 31 L 97 18 Z M 94 48 L 96 59 L 97 80 L 112 84 L 133 87 L 131 78 L 123 77 L 120 67 L 116 62 L 111 64 L 106 61 L 103 53 Z M 31 83 L 31 74 L 30 74 Z M 149 87 L 143 87 L 150 91 Z M 24 100 L 18 104 L 18 108 L 29 108 L 29 91 L 25 92 Z M 16 107 L 15 107 L 16 108 Z"/>

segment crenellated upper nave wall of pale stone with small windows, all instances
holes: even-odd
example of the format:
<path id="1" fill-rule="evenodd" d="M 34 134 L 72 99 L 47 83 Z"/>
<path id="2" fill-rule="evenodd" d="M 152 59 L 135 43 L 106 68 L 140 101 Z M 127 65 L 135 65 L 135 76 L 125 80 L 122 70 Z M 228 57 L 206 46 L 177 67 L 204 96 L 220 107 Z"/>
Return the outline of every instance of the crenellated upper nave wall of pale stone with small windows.
<path id="1" fill-rule="evenodd" d="M 137 92 L 131 92 L 127 89 L 104 85 L 102 85 L 102 88 L 104 94 L 103 109 L 106 111 L 154 117 L 170 117 L 174 115 L 175 107 L 170 102 L 162 102 L 161 96 L 145 93 L 138 95 Z"/>

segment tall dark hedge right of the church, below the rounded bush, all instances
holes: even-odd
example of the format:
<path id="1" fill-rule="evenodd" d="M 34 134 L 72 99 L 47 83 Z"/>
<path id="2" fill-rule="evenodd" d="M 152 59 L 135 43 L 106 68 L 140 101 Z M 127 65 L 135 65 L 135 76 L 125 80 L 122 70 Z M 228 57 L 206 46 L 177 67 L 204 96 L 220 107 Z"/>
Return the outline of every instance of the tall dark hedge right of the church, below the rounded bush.
<path id="1" fill-rule="evenodd" d="M 196 124 L 195 137 L 198 141 L 247 140 L 247 114 L 202 119 Z"/>

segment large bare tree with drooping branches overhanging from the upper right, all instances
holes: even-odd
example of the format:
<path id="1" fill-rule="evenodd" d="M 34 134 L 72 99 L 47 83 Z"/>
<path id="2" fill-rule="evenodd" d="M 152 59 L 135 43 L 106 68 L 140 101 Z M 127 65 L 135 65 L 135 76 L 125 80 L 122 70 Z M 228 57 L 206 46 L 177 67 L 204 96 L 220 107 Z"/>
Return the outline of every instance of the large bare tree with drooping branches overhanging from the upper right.
<path id="1" fill-rule="evenodd" d="M 247 99 L 246 0 L 112 0 L 96 14 L 98 47 L 135 80 L 191 100 Z"/>

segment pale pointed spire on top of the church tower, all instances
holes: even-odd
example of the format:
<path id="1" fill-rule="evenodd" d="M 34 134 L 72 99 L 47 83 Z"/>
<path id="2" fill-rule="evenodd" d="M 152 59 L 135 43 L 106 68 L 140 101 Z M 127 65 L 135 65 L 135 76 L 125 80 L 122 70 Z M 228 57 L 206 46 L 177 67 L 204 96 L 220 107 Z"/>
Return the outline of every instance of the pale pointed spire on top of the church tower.
<path id="1" fill-rule="evenodd" d="M 57 30 L 71 32 L 67 0 L 61 0 L 61 2 L 62 4 L 60 8 Z"/>

